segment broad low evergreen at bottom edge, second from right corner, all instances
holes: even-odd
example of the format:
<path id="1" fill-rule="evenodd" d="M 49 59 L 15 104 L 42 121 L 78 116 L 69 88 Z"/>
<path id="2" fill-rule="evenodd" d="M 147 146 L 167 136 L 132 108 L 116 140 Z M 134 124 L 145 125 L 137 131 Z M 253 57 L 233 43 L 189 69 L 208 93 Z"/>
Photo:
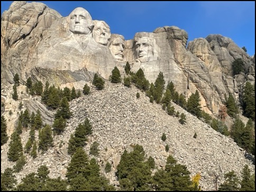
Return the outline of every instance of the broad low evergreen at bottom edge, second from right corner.
<path id="1" fill-rule="evenodd" d="M 235 175 L 235 172 L 232 170 L 225 174 L 224 176 L 225 181 L 223 184 L 220 185 L 218 190 L 220 191 L 237 191 L 239 190 L 239 179 Z"/>

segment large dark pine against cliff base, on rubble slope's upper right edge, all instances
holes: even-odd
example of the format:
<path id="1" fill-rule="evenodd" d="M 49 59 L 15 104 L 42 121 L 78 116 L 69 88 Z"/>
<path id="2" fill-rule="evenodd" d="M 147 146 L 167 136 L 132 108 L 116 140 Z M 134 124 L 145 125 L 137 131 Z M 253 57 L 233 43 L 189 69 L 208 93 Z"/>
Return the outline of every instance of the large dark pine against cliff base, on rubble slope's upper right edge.
<path id="1" fill-rule="evenodd" d="M 187 111 L 194 114 L 197 118 L 202 117 L 202 110 L 200 109 L 200 95 L 196 90 L 195 93 L 191 94 L 188 98 Z"/>

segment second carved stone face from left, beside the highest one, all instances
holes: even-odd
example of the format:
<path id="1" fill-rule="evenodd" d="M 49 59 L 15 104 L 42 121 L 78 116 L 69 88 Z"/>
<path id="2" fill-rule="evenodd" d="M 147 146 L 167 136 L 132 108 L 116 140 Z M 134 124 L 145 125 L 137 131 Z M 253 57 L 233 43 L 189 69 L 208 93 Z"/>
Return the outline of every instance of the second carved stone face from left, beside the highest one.
<path id="1" fill-rule="evenodd" d="M 102 21 L 94 21 L 95 25 L 93 28 L 93 37 L 94 40 L 102 45 L 107 45 L 110 40 L 110 28 L 107 24 L 104 24 Z"/>

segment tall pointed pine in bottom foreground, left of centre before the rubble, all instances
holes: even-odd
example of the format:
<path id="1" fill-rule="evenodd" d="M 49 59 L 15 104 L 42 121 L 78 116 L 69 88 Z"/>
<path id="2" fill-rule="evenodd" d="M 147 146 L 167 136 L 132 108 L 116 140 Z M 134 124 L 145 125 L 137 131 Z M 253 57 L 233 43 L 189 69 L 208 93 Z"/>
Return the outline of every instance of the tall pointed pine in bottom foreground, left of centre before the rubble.
<path id="1" fill-rule="evenodd" d="M 87 176 L 88 157 L 83 148 L 78 147 L 76 152 L 72 155 L 71 161 L 67 167 L 66 177 L 68 181 L 76 178 L 77 175 L 81 174 L 86 178 Z"/>

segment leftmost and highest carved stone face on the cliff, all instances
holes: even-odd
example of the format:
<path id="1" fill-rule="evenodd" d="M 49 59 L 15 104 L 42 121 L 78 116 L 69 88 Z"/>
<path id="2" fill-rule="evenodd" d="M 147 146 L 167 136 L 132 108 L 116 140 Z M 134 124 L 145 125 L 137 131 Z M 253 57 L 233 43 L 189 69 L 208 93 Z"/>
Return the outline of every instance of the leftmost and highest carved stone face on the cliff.
<path id="1" fill-rule="evenodd" d="M 69 30 L 76 34 L 89 34 L 92 17 L 86 9 L 78 7 L 70 14 Z"/>

